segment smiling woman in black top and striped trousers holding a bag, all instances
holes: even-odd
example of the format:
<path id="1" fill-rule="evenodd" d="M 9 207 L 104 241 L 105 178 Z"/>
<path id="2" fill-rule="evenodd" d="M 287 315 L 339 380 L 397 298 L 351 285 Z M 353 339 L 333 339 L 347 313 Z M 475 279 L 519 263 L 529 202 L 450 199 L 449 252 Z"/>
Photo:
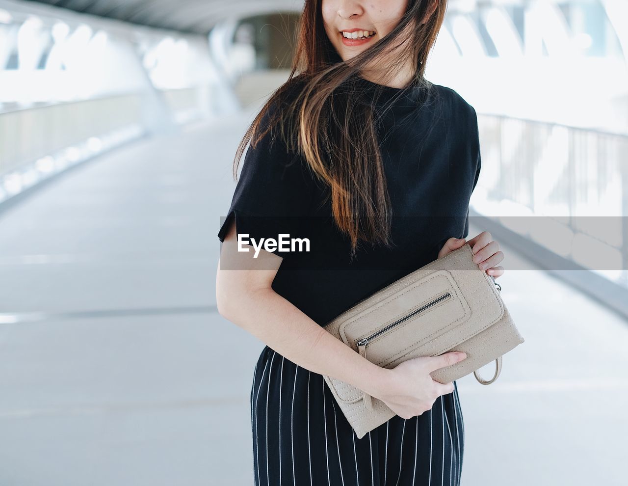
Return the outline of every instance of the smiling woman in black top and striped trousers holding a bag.
<path id="1" fill-rule="evenodd" d="M 236 152 L 234 174 L 251 141 L 218 234 L 217 306 L 267 344 L 250 396 L 256 485 L 460 482 L 458 390 L 430 373 L 464 353 L 388 370 L 324 329 L 465 243 L 489 275 L 504 271 L 489 233 L 465 241 L 480 172 L 475 110 L 423 77 L 445 8 L 445 0 L 306 0 L 290 79 Z M 260 245 L 279 235 L 307 236 L 310 247 Z M 357 439 L 323 374 L 397 415 Z"/>

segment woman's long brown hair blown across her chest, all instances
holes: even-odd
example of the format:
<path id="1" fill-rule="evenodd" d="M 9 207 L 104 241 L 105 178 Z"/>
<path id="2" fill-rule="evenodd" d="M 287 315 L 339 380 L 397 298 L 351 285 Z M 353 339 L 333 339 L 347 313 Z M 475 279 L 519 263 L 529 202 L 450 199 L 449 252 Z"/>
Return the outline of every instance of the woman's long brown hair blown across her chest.
<path id="1" fill-rule="evenodd" d="M 353 258 L 359 240 L 387 247 L 392 243 L 391 204 L 375 126 L 381 113 L 374 105 L 383 87 L 374 88 L 375 96 L 360 96 L 360 70 L 378 55 L 387 55 L 396 59 L 387 69 L 392 79 L 411 59 L 415 74 L 405 87 L 430 87 L 423 74 L 445 17 L 447 0 L 408 0 L 398 25 L 347 62 L 328 38 L 321 3 L 305 1 L 290 76 L 247 129 L 234 158 L 234 178 L 249 141 L 255 146 L 271 128 L 279 126 L 289 150 L 301 153 L 311 172 L 328 187 L 333 219 L 349 236 Z M 421 24 L 434 3 L 435 11 Z M 297 70 L 300 74 L 295 76 Z M 297 86 L 296 96 L 286 96 Z M 277 106 L 279 109 L 274 109 Z M 260 127 L 265 117 L 268 123 Z"/>

